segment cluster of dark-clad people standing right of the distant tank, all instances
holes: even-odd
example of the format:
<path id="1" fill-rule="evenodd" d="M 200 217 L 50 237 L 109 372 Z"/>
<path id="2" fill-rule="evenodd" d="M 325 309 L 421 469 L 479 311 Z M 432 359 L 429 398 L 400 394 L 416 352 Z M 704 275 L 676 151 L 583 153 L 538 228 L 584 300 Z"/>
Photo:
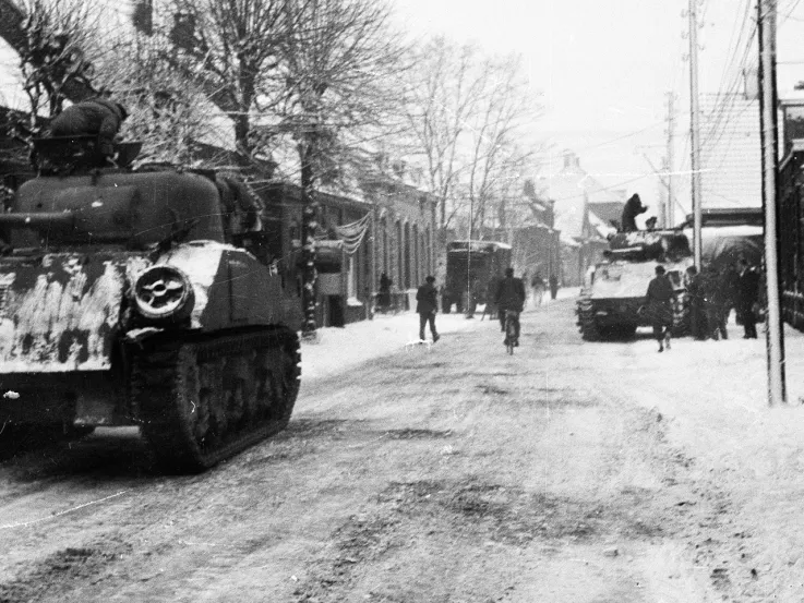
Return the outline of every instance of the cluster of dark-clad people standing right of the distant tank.
<path id="1" fill-rule="evenodd" d="M 756 314 L 760 276 L 757 269 L 740 257 L 736 268 L 705 267 L 700 273 L 691 266 L 686 270 L 692 335 L 695 339 L 727 339 L 727 323 L 732 309 L 743 325 L 745 339 L 756 339 Z"/>

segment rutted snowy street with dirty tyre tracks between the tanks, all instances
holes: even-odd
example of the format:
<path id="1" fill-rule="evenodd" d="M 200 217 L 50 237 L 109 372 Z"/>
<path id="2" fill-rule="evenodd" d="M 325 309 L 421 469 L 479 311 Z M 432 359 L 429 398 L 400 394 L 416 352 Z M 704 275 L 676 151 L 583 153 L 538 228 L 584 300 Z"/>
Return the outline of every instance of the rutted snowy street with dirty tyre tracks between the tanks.
<path id="1" fill-rule="evenodd" d="M 748 600 L 729 491 L 668 433 L 673 391 L 635 390 L 652 342 L 584 343 L 573 303 L 514 357 L 478 321 L 304 382 L 203 475 L 151 472 L 133 431 L 1 463 L 0 602 Z"/>

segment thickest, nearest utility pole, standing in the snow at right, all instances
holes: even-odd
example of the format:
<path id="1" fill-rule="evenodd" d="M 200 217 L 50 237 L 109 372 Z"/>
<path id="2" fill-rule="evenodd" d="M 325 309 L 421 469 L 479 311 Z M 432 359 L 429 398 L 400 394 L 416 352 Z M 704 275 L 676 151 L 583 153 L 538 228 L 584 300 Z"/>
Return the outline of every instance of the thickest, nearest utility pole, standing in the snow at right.
<path id="1" fill-rule="evenodd" d="M 776 118 L 776 0 L 760 0 L 757 3 L 759 125 L 763 145 L 763 212 L 765 215 L 765 275 L 768 294 L 768 403 L 770 406 L 782 405 L 787 399 L 784 385 L 784 338 L 781 324 L 777 246 L 779 146 Z"/>

